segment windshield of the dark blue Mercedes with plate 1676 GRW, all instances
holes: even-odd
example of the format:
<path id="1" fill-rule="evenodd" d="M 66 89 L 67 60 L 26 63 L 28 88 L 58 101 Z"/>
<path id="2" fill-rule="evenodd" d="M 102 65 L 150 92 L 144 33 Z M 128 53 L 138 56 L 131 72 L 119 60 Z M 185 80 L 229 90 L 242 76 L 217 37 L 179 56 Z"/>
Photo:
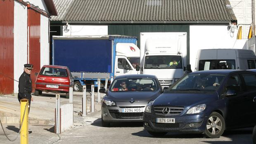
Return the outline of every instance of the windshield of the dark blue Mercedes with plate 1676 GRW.
<path id="1" fill-rule="evenodd" d="M 218 74 L 190 74 L 166 91 L 215 91 L 223 82 L 225 75 Z"/>

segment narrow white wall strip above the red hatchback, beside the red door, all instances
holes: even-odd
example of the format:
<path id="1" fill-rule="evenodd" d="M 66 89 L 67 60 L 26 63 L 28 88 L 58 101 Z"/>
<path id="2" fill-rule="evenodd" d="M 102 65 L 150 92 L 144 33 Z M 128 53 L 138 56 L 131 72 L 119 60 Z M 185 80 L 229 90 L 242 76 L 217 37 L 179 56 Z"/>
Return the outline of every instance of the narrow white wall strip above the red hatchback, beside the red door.
<path id="1" fill-rule="evenodd" d="M 41 14 L 40 18 L 40 67 L 50 64 L 50 44 L 49 44 L 49 19 Z"/>

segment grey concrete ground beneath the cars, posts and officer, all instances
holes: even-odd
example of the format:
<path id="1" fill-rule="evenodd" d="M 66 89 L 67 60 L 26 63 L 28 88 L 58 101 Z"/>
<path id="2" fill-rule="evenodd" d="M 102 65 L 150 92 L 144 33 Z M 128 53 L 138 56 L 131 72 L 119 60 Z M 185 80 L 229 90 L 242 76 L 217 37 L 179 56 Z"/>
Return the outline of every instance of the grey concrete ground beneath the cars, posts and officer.
<path id="1" fill-rule="evenodd" d="M 114 123 L 110 127 L 101 126 L 100 105 L 96 104 L 96 112 L 88 113 L 88 116 L 79 116 L 77 112 L 82 109 L 81 93 L 75 93 L 74 125 L 62 134 L 54 133 L 54 109 L 55 96 L 43 94 L 43 97 L 35 97 L 31 104 L 30 120 L 50 120 L 49 124 L 29 123 L 29 144 L 252 144 L 252 128 L 225 131 L 223 136 L 216 139 L 207 139 L 201 134 L 185 134 L 169 132 L 164 137 L 152 137 L 142 126 L 142 123 Z M 97 97 L 95 96 L 95 99 Z M 19 102 L 16 96 L 0 96 L 2 110 L 19 113 Z M 66 104 L 69 99 L 61 98 L 61 104 Z M 90 106 L 89 106 L 90 107 Z M 16 110 L 16 108 L 18 110 Z M 18 112 L 17 112 L 18 111 Z M 8 112 L 8 111 L 7 111 Z M 9 112 L 9 113 L 10 113 Z M 19 123 L 3 124 L 7 136 L 13 139 L 19 132 Z M 19 144 L 20 137 L 10 142 L 0 127 L 0 144 Z"/>

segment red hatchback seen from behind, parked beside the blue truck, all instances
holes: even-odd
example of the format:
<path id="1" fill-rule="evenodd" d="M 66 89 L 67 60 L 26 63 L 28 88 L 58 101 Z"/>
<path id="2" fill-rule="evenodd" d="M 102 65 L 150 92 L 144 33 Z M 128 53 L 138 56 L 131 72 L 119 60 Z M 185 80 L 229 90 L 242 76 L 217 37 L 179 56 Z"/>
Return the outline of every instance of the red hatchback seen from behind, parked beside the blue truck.
<path id="1" fill-rule="evenodd" d="M 42 92 L 66 93 L 69 98 L 69 87 L 73 87 L 73 78 L 66 66 L 44 65 L 36 77 L 35 95 Z"/>

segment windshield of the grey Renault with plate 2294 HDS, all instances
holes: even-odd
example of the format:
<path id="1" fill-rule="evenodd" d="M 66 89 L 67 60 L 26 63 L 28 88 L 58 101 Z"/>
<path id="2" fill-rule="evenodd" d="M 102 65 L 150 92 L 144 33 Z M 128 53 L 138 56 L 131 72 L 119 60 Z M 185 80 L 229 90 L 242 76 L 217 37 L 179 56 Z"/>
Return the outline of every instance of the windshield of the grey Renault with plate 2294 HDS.
<path id="1" fill-rule="evenodd" d="M 111 85 L 111 92 L 156 90 L 159 90 L 159 85 L 153 78 L 120 78 Z"/>

